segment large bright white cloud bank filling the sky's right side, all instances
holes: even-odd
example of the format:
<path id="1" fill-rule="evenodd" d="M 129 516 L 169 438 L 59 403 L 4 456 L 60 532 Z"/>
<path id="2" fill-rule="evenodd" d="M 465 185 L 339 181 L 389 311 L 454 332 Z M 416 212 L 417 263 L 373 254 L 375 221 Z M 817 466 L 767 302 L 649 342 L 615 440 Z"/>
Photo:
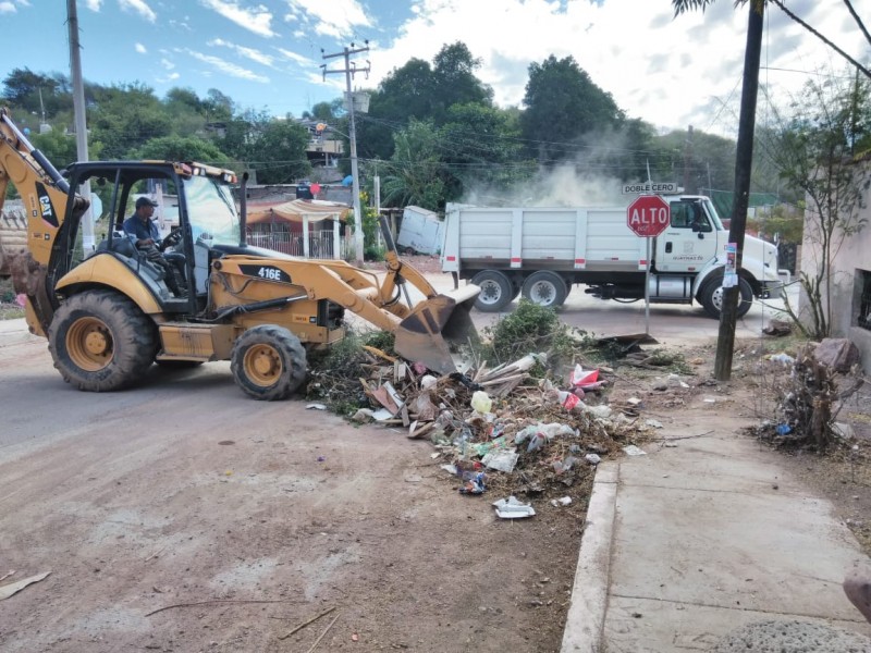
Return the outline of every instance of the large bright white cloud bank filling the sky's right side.
<path id="1" fill-rule="evenodd" d="M 871 15 L 871 0 L 852 1 L 859 15 Z M 315 13 L 319 4 L 289 3 L 297 14 Z M 868 61 L 868 44 L 859 28 L 854 24 L 849 38 L 845 35 L 849 14 L 842 0 L 797 5 L 800 9 L 790 7 L 838 46 Z M 797 90 L 807 76 L 774 69 L 812 71 L 817 61 L 844 64 L 776 7 L 769 7 L 763 53 L 769 70 L 761 75 L 763 84 Z M 395 30 L 395 39 L 370 44 L 365 57 L 371 61 L 368 85 L 377 85 L 412 58 L 431 62 L 445 45 L 462 41 L 481 59 L 476 74 L 493 87 L 494 99 L 503 107 L 522 103 L 529 64 L 553 54 L 573 57 L 630 118 L 662 127 L 692 124 L 703 131 L 736 132 L 747 4 L 736 9 L 720 0 L 704 12 L 677 17 L 665 1 L 641 11 L 614 0 L 418 0 L 412 11 L 413 17 Z"/>

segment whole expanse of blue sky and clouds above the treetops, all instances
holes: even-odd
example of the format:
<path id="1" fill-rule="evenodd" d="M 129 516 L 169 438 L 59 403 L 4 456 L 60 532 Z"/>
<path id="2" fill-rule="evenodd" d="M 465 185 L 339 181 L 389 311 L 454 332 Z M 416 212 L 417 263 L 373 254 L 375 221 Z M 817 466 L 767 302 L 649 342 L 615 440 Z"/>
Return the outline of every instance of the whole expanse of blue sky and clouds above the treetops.
<path id="1" fill-rule="evenodd" d="M 871 27 L 871 0 L 852 0 Z M 792 11 L 851 56 L 871 62 L 871 45 L 843 0 L 790 0 Z M 205 97 L 218 88 L 243 108 L 300 115 L 340 97 L 351 42 L 369 41 L 375 87 L 417 57 L 431 61 L 465 42 L 479 77 L 502 107 L 519 106 L 530 62 L 572 56 L 633 118 L 662 130 L 733 136 L 747 12 L 717 0 L 704 13 L 674 17 L 670 0 L 78 0 L 83 75 L 99 84 L 139 82 L 162 97 L 174 86 Z M 0 0 L 3 58 L 15 67 L 69 74 L 66 2 Z M 809 75 L 842 60 L 776 8 L 766 19 L 761 81 L 786 103 Z M 764 102 L 760 107 L 765 111 Z"/>

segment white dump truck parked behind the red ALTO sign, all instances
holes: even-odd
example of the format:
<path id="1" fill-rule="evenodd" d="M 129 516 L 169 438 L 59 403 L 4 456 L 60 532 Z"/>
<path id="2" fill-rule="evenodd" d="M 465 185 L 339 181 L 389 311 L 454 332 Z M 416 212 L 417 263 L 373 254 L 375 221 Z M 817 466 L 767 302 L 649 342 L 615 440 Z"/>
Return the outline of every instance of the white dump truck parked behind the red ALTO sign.
<path id="1" fill-rule="evenodd" d="M 671 223 L 651 244 L 651 304 L 698 301 L 720 316 L 728 231 L 708 197 L 666 196 Z M 643 299 L 647 238 L 629 230 L 625 207 L 483 208 L 449 204 L 442 271 L 481 287 L 475 304 L 501 311 L 520 293 L 560 306 L 574 284 L 602 299 Z M 738 280 L 745 315 L 753 297 L 781 284 L 777 248 L 746 236 Z"/>

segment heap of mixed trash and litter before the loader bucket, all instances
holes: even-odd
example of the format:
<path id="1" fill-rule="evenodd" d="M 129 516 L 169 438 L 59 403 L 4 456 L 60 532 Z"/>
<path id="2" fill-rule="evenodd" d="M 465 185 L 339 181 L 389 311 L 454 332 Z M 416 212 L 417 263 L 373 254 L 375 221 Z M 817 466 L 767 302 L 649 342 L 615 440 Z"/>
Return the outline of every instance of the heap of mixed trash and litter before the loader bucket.
<path id="1" fill-rule="evenodd" d="M 576 365 L 559 384 L 530 374 L 545 362 L 542 354 L 436 377 L 375 347 L 364 346 L 363 353 L 354 382 L 368 405 L 354 410 L 352 419 L 429 440 L 433 460 L 461 493 L 508 497 L 496 506 L 505 518 L 530 513 L 511 500 L 515 495 L 568 505 L 571 500 L 560 503 L 568 488 L 591 483 L 603 457 L 643 441 L 653 429 L 638 419 L 639 401 L 619 407 L 604 403 L 609 368 Z M 317 371 L 315 377 L 318 390 L 326 391 L 327 378 Z M 335 395 L 335 389 L 326 394 Z"/>

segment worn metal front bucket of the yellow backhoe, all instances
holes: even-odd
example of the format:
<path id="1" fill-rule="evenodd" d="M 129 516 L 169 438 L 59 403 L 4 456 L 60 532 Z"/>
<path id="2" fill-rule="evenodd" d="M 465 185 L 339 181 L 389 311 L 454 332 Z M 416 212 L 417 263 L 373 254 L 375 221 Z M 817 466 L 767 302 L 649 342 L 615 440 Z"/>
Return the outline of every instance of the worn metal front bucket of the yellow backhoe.
<path id="1" fill-rule="evenodd" d="M 447 342 L 463 343 L 475 333 L 469 310 L 480 292 L 477 285 L 467 285 L 418 304 L 396 328 L 396 353 L 436 372 L 455 372 Z"/>

